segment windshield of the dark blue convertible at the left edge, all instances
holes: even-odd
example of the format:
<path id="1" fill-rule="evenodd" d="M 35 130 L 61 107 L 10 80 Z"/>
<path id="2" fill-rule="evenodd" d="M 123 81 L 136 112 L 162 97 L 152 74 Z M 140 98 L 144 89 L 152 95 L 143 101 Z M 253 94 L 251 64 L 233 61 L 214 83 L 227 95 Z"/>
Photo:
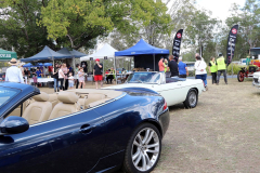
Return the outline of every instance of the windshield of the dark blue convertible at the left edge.
<path id="1" fill-rule="evenodd" d="M 18 93 L 20 90 L 0 86 L 0 108 Z"/>

